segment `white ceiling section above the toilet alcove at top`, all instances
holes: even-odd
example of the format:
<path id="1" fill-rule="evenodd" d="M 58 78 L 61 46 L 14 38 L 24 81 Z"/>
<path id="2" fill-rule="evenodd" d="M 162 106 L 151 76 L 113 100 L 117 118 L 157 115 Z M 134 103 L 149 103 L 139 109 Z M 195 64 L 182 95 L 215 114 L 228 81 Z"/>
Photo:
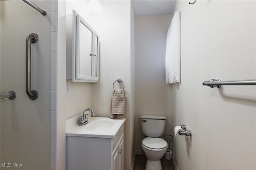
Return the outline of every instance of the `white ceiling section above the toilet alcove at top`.
<path id="1" fill-rule="evenodd" d="M 133 0 L 136 16 L 172 14 L 176 0 Z"/>

